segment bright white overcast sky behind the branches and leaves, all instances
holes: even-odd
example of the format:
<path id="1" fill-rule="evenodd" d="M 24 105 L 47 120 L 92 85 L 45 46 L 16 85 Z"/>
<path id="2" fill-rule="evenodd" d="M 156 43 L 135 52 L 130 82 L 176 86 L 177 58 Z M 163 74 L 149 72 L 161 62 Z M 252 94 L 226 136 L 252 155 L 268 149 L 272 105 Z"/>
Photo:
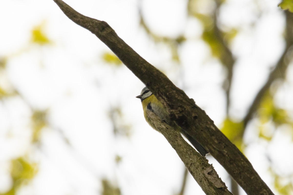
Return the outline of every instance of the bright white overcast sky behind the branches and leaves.
<path id="1" fill-rule="evenodd" d="M 221 125 L 225 117 L 225 96 L 221 89 L 225 73 L 200 40 L 201 24 L 195 19 L 186 20 L 186 1 L 141 2 L 146 23 L 153 32 L 192 37 L 180 47 L 182 66 L 179 67 L 170 61 L 168 47 L 155 45 L 138 26 L 137 0 L 66 2 L 84 15 L 108 22 L 135 51 L 184 88 L 216 125 Z M 239 60 L 230 111 L 234 118 L 240 119 L 284 48 L 280 36 L 284 21 L 282 11 L 277 8 L 278 1 L 262 0 L 259 7 L 252 2 L 227 1 L 221 15 L 227 27 L 241 29 L 231 44 Z M 199 6 L 209 11 L 204 3 Z M 259 10 L 265 14 L 251 28 L 249 25 L 259 16 Z M 30 108 L 18 98 L 0 103 L 0 193 L 11 185 L 9 160 L 28 151 L 34 153 L 32 158 L 39 162 L 40 168 L 21 195 L 99 194 L 103 177 L 117 182 L 125 195 L 169 195 L 179 191 L 183 163 L 164 137 L 144 121 L 141 103 L 135 98 L 144 85 L 126 67 L 113 68 L 101 60 L 100 56 L 109 49 L 99 39 L 71 22 L 52 0 L 1 0 L 0 18 L 0 56 L 10 56 L 7 74 L 0 76 L 0 84 L 8 86 L 6 80 L 10 80 L 30 106 L 49 109 L 52 125 L 43 130 L 41 146 L 32 147 L 28 139 Z M 31 29 L 40 23 L 44 23 L 46 34 L 53 41 L 50 46 L 28 44 Z M 290 109 L 293 109 L 292 82 L 292 78 L 288 79 L 277 95 L 280 106 Z M 110 106 L 119 105 L 125 122 L 133 124 L 129 139 L 113 136 L 107 112 Z M 265 153 L 274 152 L 276 159 L 282 159 L 276 161 L 280 173 L 292 172 L 292 166 L 287 165 L 292 165 L 293 159 L 286 152 L 292 152 L 293 146 L 286 130 L 278 135 L 286 151 L 276 144 L 260 143 L 255 138 L 256 131 L 255 127 L 249 129 L 246 155 L 272 187 Z M 122 156 L 119 166 L 115 165 L 116 155 Z M 229 185 L 223 168 L 211 156 L 207 158 Z M 204 193 L 189 177 L 185 194 Z"/>

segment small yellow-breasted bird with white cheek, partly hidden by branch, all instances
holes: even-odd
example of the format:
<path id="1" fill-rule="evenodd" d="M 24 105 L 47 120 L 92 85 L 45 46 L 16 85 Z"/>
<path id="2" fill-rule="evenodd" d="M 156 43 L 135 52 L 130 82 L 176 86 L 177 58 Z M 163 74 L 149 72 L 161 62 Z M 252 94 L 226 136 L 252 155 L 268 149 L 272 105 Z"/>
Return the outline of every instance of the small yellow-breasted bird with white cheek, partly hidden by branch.
<path id="1" fill-rule="evenodd" d="M 147 110 L 152 111 L 155 113 L 162 121 L 166 122 L 168 125 L 172 126 L 175 130 L 178 130 L 190 141 L 190 143 L 197 149 L 197 151 L 202 155 L 205 156 L 208 152 L 198 143 L 193 137 L 188 135 L 185 131 L 181 129 L 175 122 L 171 121 L 169 114 L 163 104 L 156 98 L 156 96 L 147 88 L 144 87 L 142 92 L 139 96 L 136 96 L 142 101 L 142 108 L 144 110 L 144 118 L 149 123 L 149 125 L 156 130 L 151 118 L 147 114 Z"/>

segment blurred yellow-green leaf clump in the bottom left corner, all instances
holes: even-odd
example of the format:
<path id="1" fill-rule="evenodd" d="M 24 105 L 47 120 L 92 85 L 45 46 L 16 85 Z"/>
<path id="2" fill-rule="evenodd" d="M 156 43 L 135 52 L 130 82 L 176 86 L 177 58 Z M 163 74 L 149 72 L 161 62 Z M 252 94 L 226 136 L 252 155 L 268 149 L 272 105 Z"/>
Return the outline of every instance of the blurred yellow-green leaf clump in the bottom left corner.
<path id="1" fill-rule="evenodd" d="M 1 195 L 14 195 L 23 185 L 27 185 L 38 172 L 38 165 L 30 163 L 25 157 L 19 157 L 11 161 L 12 187 L 9 191 Z"/>

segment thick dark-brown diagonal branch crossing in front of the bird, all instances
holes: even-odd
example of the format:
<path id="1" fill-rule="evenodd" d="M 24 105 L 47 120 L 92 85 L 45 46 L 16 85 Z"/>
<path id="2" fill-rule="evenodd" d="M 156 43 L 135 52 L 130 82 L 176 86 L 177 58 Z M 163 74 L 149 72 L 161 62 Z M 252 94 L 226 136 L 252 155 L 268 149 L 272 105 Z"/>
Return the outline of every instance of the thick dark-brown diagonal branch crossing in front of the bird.
<path id="1" fill-rule="evenodd" d="M 76 12 L 62 0 L 54 1 L 69 19 L 91 31 L 109 47 L 127 68 L 146 84 L 159 101 L 163 103 L 171 119 L 202 144 L 248 195 L 273 194 L 253 169 L 247 158 L 219 131 L 205 111 L 195 105 L 194 100 L 189 99 L 166 75 L 139 56 L 117 36 L 115 31 L 106 22 L 86 17 Z M 168 136 L 172 135 L 166 134 L 166 139 L 168 139 Z M 180 148 L 182 146 L 174 145 L 173 147 Z M 188 155 L 191 155 L 193 152 L 187 148 L 182 149 L 185 151 L 182 158 L 188 160 L 190 158 Z M 199 162 L 205 161 L 203 159 L 202 157 Z M 192 163 L 196 162 L 195 158 L 191 160 L 193 161 Z M 187 167 L 190 167 L 190 165 L 192 164 L 187 164 Z M 212 168 L 208 169 L 206 167 L 205 171 L 207 170 L 209 170 L 207 173 L 213 172 Z"/>

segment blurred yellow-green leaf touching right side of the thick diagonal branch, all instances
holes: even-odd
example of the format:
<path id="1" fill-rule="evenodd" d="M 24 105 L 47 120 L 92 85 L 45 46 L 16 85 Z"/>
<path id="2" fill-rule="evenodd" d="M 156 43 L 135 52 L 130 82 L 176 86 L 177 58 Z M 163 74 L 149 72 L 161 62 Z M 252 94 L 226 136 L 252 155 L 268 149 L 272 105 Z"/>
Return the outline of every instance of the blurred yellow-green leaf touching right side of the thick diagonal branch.
<path id="1" fill-rule="evenodd" d="M 234 122 L 229 118 L 226 118 L 223 122 L 221 129 L 222 133 L 233 143 L 239 150 L 242 150 L 243 140 L 243 122 Z"/>

